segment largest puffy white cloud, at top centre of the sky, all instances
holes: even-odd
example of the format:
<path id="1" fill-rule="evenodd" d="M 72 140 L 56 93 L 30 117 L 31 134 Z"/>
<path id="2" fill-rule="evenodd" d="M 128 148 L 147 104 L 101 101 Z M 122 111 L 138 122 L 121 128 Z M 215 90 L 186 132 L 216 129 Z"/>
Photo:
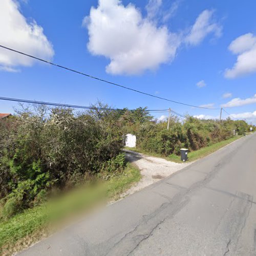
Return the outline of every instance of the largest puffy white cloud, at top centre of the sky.
<path id="1" fill-rule="evenodd" d="M 174 59 L 181 43 L 178 34 L 170 33 L 165 26 L 157 27 L 134 5 L 125 7 L 119 0 L 99 0 L 83 25 L 89 31 L 88 50 L 111 60 L 106 67 L 111 74 L 156 70 L 161 63 Z"/>

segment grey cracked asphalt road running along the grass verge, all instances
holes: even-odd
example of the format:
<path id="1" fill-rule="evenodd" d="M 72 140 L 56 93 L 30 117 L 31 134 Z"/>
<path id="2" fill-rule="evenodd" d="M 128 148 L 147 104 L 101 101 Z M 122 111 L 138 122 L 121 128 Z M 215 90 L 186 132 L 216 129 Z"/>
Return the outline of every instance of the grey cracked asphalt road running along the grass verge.
<path id="1" fill-rule="evenodd" d="M 20 255 L 256 255 L 255 198 L 253 134 Z"/>

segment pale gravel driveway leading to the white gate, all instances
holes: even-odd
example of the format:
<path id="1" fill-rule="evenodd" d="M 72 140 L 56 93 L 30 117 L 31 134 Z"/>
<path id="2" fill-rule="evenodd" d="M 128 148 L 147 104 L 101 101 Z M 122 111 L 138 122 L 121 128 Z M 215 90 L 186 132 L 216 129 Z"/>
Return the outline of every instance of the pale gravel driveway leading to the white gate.
<path id="1" fill-rule="evenodd" d="M 130 150 L 124 150 L 124 152 L 127 160 L 134 163 L 140 169 L 142 176 L 137 185 L 126 191 L 125 196 L 162 180 L 191 164 L 191 162 L 175 163 L 163 158 L 150 157 Z"/>

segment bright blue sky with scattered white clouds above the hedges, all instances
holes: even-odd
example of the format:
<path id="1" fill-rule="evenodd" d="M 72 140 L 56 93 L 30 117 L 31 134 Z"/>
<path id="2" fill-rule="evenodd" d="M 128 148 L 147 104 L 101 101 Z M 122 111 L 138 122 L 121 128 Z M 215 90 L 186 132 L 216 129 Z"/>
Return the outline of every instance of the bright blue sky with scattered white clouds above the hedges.
<path id="1" fill-rule="evenodd" d="M 0 44 L 160 97 L 224 105 L 233 117 L 256 123 L 255 9 L 253 0 L 3 0 Z M 80 105 L 99 99 L 117 108 L 219 116 L 218 110 L 144 96 L 3 49 L 0 84 L 3 97 Z M 0 104 L 2 113 L 16 106 Z"/>

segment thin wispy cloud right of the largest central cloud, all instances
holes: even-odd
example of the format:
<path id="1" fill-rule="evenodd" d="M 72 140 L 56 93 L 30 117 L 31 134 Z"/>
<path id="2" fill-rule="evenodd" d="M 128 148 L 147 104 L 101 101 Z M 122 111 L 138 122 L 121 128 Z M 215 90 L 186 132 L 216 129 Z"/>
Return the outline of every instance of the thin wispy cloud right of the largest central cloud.
<path id="1" fill-rule="evenodd" d="M 196 19 L 190 33 L 185 38 L 189 45 L 198 45 L 210 33 L 216 37 L 222 35 L 222 26 L 215 22 L 213 18 L 214 11 L 204 10 Z"/>

